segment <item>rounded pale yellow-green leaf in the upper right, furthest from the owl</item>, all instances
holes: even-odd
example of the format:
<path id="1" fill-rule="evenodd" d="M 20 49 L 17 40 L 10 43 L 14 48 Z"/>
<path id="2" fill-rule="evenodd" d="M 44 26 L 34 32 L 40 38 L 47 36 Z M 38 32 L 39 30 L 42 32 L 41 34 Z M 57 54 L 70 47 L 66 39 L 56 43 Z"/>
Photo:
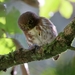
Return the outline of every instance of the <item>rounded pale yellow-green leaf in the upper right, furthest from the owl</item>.
<path id="1" fill-rule="evenodd" d="M 62 0 L 59 12 L 63 17 L 68 19 L 73 13 L 73 6 L 70 2 Z"/>

